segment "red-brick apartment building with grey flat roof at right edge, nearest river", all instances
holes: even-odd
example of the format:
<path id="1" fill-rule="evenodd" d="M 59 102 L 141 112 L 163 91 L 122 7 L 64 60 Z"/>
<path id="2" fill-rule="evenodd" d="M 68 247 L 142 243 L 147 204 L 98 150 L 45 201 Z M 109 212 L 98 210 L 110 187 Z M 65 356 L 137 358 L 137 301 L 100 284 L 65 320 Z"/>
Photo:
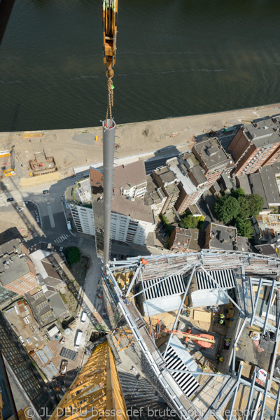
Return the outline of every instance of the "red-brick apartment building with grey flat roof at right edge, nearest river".
<path id="1" fill-rule="evenodd" d="M 241 127 L 228 146 L 235 160 L 234 176 L 253 174 L 280 160 L 279 117 Z"/>

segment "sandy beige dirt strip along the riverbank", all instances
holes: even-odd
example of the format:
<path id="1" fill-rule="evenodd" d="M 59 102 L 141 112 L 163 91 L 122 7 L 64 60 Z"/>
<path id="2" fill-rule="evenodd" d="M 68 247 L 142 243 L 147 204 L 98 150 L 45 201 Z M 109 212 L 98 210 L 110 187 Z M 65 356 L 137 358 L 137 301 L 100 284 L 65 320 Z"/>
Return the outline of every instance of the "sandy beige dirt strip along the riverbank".
<path id="1" fill-rule="evenodd" d="M 119 125 L 117 140 L 120 148 L 116 156 L 126 158 L 139 155 L 139 158 L 144 158 L 149 153 L 153 155 L 155 151 L 168 146 L 187 147 L 191 145 L 192 137 L 202 134 L 204 130 L 218 130 L 224 126 L 241 123 L 242 120 L 253 120 L 279 113 L 280 104 L 273 104 L 223 113 Z M 30 137 L 34 133 L 41 134 L 41 137 Z M 59 174 L 50 175 L 62 178 L 71 176 L 74 167 L 102 162 L 102 127 L 5 132 L 0 134 L 0 142 L 1 150 L 11 150 L 11 146 L 15 145 L 15 172 L 17 177 L 20 177 L 22 186 L 27 186 L 27 180 L 30 179 L 29 160 L 34 160 L 34 153 L 45 152 L 46 156 L 53 156 Z M 0 165 L 3 165 L 4 161 L 6 158 L 1 160 Z M 32 179 L 31 182 L 37 183 L 40 179 L 42 177 L 38 176 L 36 181 Z"/>

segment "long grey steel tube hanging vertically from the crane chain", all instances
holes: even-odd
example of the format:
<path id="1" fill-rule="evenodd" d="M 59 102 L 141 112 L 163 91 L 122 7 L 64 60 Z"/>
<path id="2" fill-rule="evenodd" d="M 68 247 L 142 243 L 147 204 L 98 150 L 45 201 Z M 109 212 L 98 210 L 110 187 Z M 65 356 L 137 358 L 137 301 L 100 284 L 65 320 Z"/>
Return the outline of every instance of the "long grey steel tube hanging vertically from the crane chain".
<path id="1" fill-rule="evenodd" d="M 103 177 L 104 177 L 104 270 L 109 263 L 111 241 L 111 211 L 113 198 L 113 159 L 115 151 L 116 123 L 104 120 L 103 129 Z"/>

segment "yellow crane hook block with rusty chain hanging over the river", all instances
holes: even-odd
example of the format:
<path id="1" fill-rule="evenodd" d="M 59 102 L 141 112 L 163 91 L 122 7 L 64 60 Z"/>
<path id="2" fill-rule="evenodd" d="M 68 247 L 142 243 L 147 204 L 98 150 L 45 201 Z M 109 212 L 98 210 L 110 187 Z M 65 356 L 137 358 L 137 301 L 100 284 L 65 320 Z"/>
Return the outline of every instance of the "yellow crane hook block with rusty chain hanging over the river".
<path id="1" fill-rule="evenodd" d="M 113 126 L 113 66 L 116 63 L 118 0 L 103 0 L 103 59 L 107 69 L 107 111 Z"/>

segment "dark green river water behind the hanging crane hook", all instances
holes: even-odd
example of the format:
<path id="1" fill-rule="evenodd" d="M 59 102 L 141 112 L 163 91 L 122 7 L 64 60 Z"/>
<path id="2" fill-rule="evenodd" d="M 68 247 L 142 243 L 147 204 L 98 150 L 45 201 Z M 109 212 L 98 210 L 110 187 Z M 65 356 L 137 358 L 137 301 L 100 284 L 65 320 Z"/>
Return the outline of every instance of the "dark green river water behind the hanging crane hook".
<path id="1" fill-rule="evenodd" d="M 280 2 L 119 0 L 118 124 L 280 102 Z M 0 46 L 0 132 L 99 125 L 102 0 L 16 0 Z"/>

